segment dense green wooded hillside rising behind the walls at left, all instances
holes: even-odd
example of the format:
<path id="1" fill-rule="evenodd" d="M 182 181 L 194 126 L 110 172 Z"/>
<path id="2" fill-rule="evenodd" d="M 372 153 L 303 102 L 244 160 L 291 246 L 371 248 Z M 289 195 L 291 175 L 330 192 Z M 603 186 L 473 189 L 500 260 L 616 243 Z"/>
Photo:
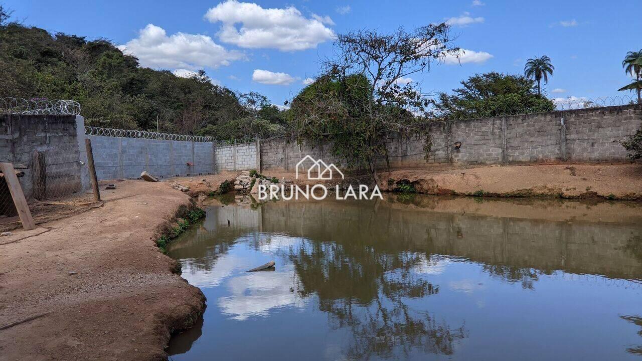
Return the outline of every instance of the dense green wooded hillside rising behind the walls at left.
<path id="1" fill-rule="evenodd" d="M 87 125 L 96 127 L 155 131 L 158 122 L 161 132 L 221 140 L 283 128 L 281 119 L 271 123 L 278 109 L 265 108 L 270 104 L 261 94 L 250 93 L 257 107 L 250 106 L 243 94 L 214 85 L 205 71 L 183 78 L 141 67 L 108 40 L 51 34 L 11 22 L 10 15 L 0 6 L 0 97 L 73 99 Z M 267 123 L 245 120 L 264 115 Z M 243 120 L 224 127 L 236 119 Z"/>

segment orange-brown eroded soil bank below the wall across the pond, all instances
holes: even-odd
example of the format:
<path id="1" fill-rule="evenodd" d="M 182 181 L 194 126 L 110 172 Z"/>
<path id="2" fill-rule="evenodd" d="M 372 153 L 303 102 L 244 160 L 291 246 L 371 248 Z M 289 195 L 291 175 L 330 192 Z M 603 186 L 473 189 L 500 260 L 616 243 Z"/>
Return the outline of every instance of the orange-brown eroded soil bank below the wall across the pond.
<path id="1" fill-rule="evenodd" d="M 381 189 L 393 191 L 400 183 L 412 184 L 417 193 L 482 197 L 605 198 L 642 200 L 642 164 L 531 164 L 453 168 L 379 170 Z M 279 179 L 294 173 L 270 172 Z M 370 178 L 346 177 L 353 184 Z M 340 182 L 336 177 L 333 182 Z M 314 184 L 317 180 L 299 180 Z"/>

